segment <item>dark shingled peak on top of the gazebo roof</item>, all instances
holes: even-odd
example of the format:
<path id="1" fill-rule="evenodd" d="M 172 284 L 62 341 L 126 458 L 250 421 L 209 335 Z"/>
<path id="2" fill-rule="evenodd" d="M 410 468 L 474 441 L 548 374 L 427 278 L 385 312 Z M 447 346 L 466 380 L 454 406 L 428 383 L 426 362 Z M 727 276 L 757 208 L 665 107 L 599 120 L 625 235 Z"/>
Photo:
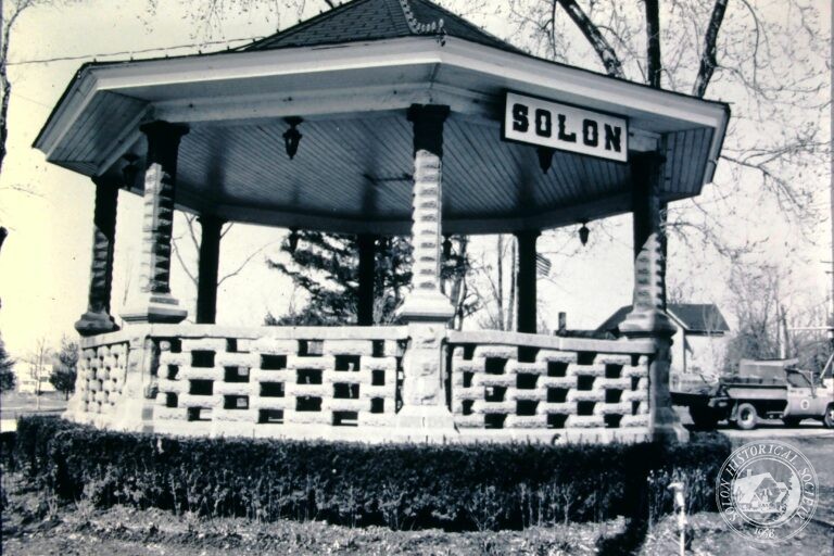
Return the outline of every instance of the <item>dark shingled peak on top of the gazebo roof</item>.
<path id="1" fill-rule="evenodd" d="M 446 35 L 521 52 L 429 0 L 352 0 L 241 50 L 277 50 L 417 35 Z"/>

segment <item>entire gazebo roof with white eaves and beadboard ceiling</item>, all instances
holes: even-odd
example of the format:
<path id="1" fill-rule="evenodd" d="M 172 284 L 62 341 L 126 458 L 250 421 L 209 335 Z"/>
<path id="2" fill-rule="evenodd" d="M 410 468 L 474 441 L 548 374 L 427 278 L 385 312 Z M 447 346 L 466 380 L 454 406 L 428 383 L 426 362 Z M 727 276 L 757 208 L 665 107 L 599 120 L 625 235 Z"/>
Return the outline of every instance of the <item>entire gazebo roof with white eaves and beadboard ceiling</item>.
<path id="1" fill-rule="evenodd" d="M 442 24 L 441 24 L 442 18 Z M 81 66 L 35 147 L 50 162 L 135 192 L 139 124 L 184 123 L 177 203 L 223 218 L 343 232 L 406 233 L 412 104 L 445 104 L 443 229 L 543 229 L 631 211 L 620 161 L 502 139 L 508 91 L 614 114 L 629 155 L 660 150 L 666 201 L 709 182 L 729 111 L 540 60 L 428 0 L 354 0 L 244 49 Z M 285 118 L 301 117 L 298 154 Z"/>

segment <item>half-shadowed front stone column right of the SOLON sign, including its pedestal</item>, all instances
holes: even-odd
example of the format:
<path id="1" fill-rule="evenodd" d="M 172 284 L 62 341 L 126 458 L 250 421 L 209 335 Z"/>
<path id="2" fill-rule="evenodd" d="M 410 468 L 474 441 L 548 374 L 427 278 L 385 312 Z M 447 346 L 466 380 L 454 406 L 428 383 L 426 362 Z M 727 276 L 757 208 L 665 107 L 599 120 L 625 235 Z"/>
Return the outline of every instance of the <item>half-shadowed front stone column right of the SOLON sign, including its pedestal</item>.
<path id="1" fill-rule="evenodd" d="M 688 432 L 672 409 L 669 394 L 672 336 L 677 328 L 666 314 L 666 238 L 660 214 L 665 159 L 659 153 L 632 156 L 634 299 L 620 331 L 627 338 L 647 338 L 655 344 L 648 377 L 653 440 L 685 441 Z"/>

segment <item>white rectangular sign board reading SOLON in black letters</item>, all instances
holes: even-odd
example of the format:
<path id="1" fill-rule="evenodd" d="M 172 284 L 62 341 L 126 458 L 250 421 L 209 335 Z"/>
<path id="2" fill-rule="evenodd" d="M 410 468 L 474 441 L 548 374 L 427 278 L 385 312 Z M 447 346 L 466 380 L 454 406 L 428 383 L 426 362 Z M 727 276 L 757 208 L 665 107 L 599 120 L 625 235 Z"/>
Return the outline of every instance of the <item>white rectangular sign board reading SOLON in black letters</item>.
<path id="1" fill-rule="evenodd" d="M 504 139 L 626 162 L 629 127 L 623 117 L 507 92 Z"/>

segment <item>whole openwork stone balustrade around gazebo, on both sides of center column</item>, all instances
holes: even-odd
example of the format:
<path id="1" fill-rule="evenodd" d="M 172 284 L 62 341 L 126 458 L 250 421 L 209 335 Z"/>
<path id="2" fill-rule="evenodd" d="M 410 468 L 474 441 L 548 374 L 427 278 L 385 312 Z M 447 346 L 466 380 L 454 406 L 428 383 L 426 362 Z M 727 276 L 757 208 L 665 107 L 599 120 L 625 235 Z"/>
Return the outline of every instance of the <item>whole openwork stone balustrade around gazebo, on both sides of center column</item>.
<path id="1" fill-rule="evenodd" d="M 515 332 L 446 331 L 439 349 L 447 408 L 438 409 L 451 410 L 454 426 L 426 435 L 399 430 L 407 334 L 407 327 L 135 325 L 81 340 L 67 416 L 193 435 L 647 438 L 649 341 Z"/>

